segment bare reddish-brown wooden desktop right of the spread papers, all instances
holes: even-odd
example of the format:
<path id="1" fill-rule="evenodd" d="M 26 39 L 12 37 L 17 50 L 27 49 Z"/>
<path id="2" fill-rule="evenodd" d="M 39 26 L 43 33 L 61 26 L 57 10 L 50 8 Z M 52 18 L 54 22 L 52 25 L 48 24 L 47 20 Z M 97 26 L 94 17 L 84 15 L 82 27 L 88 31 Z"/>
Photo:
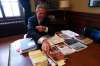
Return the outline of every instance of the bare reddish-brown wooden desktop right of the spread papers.
<path id="1" fill-rule="evenodd" d="M 92 43 L 88 48 L 71 54 L 66 66 L 100 66 L 100 44 Z"/>

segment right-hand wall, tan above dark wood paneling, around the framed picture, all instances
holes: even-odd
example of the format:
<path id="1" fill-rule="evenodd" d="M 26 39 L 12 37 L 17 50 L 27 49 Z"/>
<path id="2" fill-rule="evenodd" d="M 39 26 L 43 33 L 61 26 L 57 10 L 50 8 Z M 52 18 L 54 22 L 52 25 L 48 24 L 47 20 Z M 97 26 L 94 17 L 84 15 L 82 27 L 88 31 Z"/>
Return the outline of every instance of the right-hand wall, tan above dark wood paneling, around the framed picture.
<path id="1" fill-rule="evenodd" d="M 84 28 L 100 29 L 100 7 L 89 7 L 89 0 L 70 0 L 70 28 L 82 33 Z"/>

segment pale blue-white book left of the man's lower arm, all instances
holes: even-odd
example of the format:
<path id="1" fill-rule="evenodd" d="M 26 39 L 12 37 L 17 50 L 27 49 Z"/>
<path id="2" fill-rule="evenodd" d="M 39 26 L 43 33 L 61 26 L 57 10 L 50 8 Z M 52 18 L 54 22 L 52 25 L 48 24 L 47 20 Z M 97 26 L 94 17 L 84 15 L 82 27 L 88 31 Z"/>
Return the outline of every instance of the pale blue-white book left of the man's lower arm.
<path id="1" fill-rule="evenodd" d="M 37 45 L 35 44 L 34 40 L 31 40 L 30 38 L 19 39 L 17 43 L 19 46 L 16 48 L 16 50 L 18 50 L 20 54 L 37 49 Z"/>

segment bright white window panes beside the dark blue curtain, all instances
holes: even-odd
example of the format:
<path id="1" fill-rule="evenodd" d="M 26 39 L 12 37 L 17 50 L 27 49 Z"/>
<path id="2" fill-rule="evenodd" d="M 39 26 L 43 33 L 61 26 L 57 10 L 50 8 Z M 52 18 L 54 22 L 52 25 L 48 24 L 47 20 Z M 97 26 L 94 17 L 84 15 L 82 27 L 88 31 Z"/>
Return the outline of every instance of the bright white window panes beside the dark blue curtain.
<path id="1" fill-rule="evenodd" d="M 1 6 L 5 17 L 21 16 L 18 0 L 1 0 Z M 0 16 L 2 16 L 1 13 Z"/>

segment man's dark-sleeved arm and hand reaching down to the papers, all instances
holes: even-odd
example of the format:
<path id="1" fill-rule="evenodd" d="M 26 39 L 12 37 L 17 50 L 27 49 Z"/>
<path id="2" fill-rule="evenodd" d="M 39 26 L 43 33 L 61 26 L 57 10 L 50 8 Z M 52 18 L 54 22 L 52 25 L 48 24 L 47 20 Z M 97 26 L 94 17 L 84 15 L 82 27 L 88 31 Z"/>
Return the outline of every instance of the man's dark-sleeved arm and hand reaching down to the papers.
<path id="1" fill-rule="evenodd" d="M 36 24 L 33 21 L 32 18 L 30 18 L 28 20 L 28 36 L 32 37 L 37 43 L 41 43 L 42 44 L 42 50 L 48 52 L 49 50 L 49 43 L 47 42 L 47 38 L 46 37 L 42 37 L 41 35 L 38 34 L 38 32 L 36 31 Z M 40 48 L 40 47 L 39 47 Z"/>

